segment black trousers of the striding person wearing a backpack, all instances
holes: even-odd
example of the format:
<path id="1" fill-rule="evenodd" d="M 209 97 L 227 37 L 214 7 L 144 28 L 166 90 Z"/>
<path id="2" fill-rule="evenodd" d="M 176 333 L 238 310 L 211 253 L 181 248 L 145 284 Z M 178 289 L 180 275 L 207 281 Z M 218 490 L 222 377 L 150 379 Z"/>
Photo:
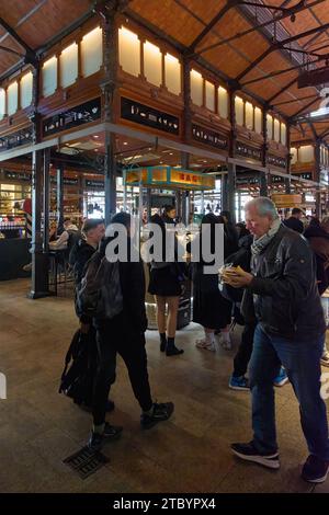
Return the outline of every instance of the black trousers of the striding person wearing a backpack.
<path id="1" fill-rule="evenodd" d="M 147 356 L 144 334 L 125 331 L 115 322 L 105 322 L 98 327 L 98 370 L 93 390 L 93 423 L 105 421 L 106 402 L 111 385 L 115 381 L 116 353 L 123 358 L 129 374 L 134 394 L 143 411 L 152 407 L 148 382 Z"/>

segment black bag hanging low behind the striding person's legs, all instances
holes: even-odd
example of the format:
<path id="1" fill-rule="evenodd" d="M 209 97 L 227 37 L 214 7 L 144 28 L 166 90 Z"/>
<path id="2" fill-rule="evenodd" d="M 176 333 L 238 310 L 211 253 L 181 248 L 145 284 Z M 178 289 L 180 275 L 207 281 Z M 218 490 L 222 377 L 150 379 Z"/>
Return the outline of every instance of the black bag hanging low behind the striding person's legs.
<path id="1" fill-rule="evenodd" d="M 91 405 L 97 370 L 94 330 L 88 334 L 76 331 L 68 348 L 61 374 L 59 393 L 73 399 L 77 404 Z"/>

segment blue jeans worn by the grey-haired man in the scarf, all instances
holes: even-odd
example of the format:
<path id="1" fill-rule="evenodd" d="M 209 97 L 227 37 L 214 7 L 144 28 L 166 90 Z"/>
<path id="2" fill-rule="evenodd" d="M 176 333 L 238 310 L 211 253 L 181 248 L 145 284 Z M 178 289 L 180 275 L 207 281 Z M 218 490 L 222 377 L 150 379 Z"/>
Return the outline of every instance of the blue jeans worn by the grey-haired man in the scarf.
<path id="1" fill-rule="evenodd" d="M 299 402 L 309 454 L 329 461 L 326 404 L 320 397 L 320 357 L 325 335 L 292 341 L 268 334 L 260 324 L 250 359 L 253 444 L 260 453 L 277 450 L 273 379 L 284 366 Z"/>

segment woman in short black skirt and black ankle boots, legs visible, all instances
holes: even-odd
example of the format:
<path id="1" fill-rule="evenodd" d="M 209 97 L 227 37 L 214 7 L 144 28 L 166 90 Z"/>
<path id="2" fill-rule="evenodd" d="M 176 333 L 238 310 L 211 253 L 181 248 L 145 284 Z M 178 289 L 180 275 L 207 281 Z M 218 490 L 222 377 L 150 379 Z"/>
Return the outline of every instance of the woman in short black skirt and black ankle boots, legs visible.
<path id="1" fill-rule="evenodd" d="M 174 208 L 171 213 L 173 215 Z M 177 317 L 182 293 L 180 281 L 180 268 L 183 263 L 177 261 L 171 262 L 166 260 L 166 237 L 168 229 L 166 229 L 164 218 L 159 215 L 154 215 L 150 222 L 160 227 L 162 233 L 162 260 L 159 262 L 152 261 L 150 264 L 150 275 L 148 293 L 154 295 L 157 302 L 157 323 L 160 335 L 160 351 L 166 352 L 167 356 L 178 356 L 183 354 L 182 348 L 178 348 L 174 344 Z M 173 224 L 173 220 L 170 222 Z M 171 227 L 171 226 L 170 226 Z M 178 240 L 174 236 L 174 258 L 178 254 Z M 168 306 L 168 320 L 167 320 L 167 335 L 166 335 L 166 306 Z"/>

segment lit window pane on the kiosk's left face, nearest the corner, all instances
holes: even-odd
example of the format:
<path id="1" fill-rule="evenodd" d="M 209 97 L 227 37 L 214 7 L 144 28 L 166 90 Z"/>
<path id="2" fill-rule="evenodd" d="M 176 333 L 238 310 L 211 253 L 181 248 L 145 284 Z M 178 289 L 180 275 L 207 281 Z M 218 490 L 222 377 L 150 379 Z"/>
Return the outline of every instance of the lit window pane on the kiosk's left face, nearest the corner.
<path id="1" fill-rule="evenodd" d="M 99 71 L 103 62 L 103 34 L 101 27 L 95 27 L 81 41 L 81 73 L 89 77 Z"/>

